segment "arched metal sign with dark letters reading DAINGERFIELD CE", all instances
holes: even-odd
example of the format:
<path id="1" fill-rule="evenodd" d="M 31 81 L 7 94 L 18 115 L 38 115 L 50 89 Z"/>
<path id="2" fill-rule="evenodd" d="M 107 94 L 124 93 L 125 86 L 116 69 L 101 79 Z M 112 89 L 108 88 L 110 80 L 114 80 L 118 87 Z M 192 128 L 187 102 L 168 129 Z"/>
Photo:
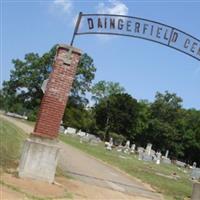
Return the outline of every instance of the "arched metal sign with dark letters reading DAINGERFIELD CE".
<path id="1" fill-rule="evenodd" d="M 200 40 L 175 27 L 156 21 L 110 14 L 79 13 L 74 34 L 120 35 L 153 41 L 185 53 L 200 61 Z"/>

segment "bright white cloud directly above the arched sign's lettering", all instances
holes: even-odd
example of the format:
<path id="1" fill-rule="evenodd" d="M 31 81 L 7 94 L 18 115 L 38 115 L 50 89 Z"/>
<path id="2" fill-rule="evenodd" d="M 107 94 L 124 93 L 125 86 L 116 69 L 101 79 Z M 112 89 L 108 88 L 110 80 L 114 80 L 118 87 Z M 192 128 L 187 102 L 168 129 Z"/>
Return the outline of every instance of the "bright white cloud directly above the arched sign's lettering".
<path id="1" fill-rule="evenodd" d="M 99 14 L 127 15 L 128 7 L 119 0 L 109 0 L 108 3 L 99 3 L 97 12 Z"/>

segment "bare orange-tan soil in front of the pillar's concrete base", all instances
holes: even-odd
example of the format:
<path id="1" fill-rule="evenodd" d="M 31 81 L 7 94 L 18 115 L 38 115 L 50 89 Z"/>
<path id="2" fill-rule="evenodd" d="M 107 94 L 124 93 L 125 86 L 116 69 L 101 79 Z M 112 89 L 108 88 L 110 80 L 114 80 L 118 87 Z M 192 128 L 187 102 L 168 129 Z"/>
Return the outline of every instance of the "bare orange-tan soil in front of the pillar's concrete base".
<path id="1" fill-rule="evenodd" d="M 33 197 L 52 199 L 120 199 L 120 200 L 147 200 L 137 196 L 130 196 L 122 192 L 91 186 L 73 179 L 57 177 L 56 183 L 48 184 L 31 179 L 17 178 L 15 175 L 2 175 L 1 200 L 31 199 Z M 8 186 L 9 185 L 9 186 Z M 16 188 L 16 191 L 13 189 Z M 19 190 L 19 191 L 18 191 Z M 28 194 L 28 198 L 27 198 Z"/>

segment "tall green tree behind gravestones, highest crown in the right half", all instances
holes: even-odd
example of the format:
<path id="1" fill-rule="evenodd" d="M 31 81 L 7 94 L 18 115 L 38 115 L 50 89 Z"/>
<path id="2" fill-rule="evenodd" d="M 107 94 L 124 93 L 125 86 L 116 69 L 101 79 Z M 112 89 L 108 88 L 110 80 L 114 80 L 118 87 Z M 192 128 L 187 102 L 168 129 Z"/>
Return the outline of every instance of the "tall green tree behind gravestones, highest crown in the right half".
<path id="1" fill-rule="evenodd" d="M 157 92 L 155 101 L 150 106 L 148 128 L 144 133 L 144 142 L 151 142 L 155 148 L 171 155 L 183 156 L 183 133 L 177 129 L 181 117 L 182 99 L 176 94 L 166 91 Z"/>

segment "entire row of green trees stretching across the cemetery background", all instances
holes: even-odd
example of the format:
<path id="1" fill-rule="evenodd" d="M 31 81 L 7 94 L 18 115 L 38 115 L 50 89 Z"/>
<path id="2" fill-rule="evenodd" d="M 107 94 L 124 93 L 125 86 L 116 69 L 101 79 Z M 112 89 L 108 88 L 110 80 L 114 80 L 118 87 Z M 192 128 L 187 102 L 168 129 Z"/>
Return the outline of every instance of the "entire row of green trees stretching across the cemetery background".
<path id="1" fill-rule="evenodd" d="M 52 70 L 54 55 L 55 46 L 42 56 L 28 53 L 23 60 L 12 60 L 14 69 L 0 90 L 0 109 L 35 121 L 43 97 L 41 85 Z M 93 59 L 83 54 L 63 116 L 65 127 L 102 140 L 112 137 L 116 144 L 127 139 L 140 146 L 150 142 L 162 153 L 169 150 L 173 159 L 200 164 L 200 110 L 183 108 L 181 97 L 168 91 L 157 92 L 153 102 L 137 100 L 119 83 L 93 84 L 95 72 Z"/>

